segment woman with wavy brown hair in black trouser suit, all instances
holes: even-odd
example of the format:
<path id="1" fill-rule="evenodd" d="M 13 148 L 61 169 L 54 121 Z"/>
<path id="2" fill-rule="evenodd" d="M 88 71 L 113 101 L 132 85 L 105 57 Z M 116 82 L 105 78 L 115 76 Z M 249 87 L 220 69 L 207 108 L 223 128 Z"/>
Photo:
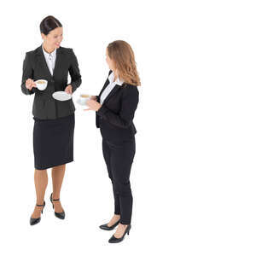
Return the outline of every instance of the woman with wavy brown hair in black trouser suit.
<path id="1" fill-rule="evenodd" d="M 118 229 L 109 242 L 119 242 L 131 230 L 131 164 L 135 155 L 136 128 L 133 124 L 138 104 L 140 79 L 131 46 L 125 41 L 108 44 L 108 79 L 99 96 L 87 102 L 96 111 L 96 127 L 102 133 L 103 156 L 113 183 L 114 215 L 102 230 Z M 86 109 L 88 110 L 88 109 Z"/>

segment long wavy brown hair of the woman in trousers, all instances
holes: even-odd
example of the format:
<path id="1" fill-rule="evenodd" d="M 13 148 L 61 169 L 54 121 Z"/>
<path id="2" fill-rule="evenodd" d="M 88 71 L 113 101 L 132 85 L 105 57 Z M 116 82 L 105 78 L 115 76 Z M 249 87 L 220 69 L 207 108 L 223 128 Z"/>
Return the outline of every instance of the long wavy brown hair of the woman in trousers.
<path id="1" fill-rule="evenodd" d="M 117 40 L 108 44 L 107 49 L 109 58 L 113 60 L 119 72 L 119 79 L 123 79 L 127 84 L 141 85 L 134 53 L 130 44 Z"/>

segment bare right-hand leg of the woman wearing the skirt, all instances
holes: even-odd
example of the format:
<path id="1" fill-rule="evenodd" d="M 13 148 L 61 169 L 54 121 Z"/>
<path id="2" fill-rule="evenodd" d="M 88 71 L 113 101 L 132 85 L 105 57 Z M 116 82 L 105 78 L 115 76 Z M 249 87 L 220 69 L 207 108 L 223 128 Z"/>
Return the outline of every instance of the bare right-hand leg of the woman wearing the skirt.
<path id="1" fill-rule="evenodd" d="M 53 199 L 59 199 L 61 195 L 61 185 L 63 182 L 63 177 L 65 175 L 66 165 L 55 166 L 52 168 L 51 176 L 52 176 L 52 187 Z M 61 207 L 61 201 L 53 201 L 55 206 L 55 212 L 63 212 L 63 208 Z"/>

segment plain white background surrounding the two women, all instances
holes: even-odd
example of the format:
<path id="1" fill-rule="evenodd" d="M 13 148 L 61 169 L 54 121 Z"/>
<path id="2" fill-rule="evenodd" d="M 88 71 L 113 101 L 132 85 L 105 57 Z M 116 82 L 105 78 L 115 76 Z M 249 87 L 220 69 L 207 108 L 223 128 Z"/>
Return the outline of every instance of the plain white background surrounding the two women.
<path id="1" fill-rule="evenodd" d="M 3 3 L 2 3 L 3 4 Z M 1 7 L 2 255 L 255 255 L 255 68 L 253 1 L 7 1 Z M 55 15 L 83 83 L 98 94 L 105 49 L 131 44 L 142 79 L 134 119 L 131 234 L 108 244 L 113 214 L 95 113 L 77 107 L 75 161 L 67 165 L 62 221 L 35 205 L 32 100 L 20 90 L 39 23 Z"/>

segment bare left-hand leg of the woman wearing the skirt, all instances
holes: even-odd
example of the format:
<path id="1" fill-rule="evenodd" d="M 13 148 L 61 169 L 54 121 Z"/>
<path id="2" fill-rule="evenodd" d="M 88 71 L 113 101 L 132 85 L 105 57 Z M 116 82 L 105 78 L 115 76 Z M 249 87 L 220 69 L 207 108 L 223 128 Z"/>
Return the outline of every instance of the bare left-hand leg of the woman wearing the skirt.
<path id="1" fill-rule="evenodd" d="M 37 204 L 44 205 L 44 194 L 48 184 L 47 170 L 35 170 L 34 181 L 37 194 Z M 32 218 L 39 218 L 43 207 L 35 207 Z"/>

